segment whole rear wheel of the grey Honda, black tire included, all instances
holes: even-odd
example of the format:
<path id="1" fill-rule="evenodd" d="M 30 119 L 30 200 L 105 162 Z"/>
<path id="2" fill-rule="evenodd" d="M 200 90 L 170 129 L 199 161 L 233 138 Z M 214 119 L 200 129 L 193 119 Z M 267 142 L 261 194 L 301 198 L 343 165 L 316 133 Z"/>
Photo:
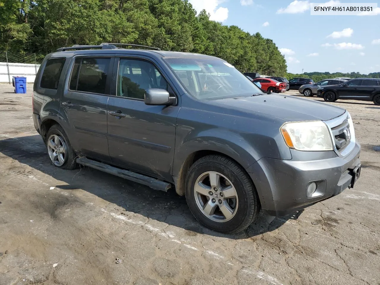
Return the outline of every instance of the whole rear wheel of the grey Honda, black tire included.
<path id="1" fill-rule="evenodd" d="M 76 168 L 76 154 L 60 125 L 52 125 L 49 131 L 47 131 L 46 147 L 49 158 L 54 166 L 70 170 Z"/>

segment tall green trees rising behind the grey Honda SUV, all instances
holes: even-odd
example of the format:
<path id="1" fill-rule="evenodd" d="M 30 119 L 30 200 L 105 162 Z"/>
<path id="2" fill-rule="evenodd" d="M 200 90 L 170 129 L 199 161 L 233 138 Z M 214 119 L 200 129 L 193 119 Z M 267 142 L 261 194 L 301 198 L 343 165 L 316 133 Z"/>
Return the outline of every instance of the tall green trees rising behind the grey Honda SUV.
<path id="1" fill-rule="evenodd" d="M 213 55 L 242 72 L 286 74 L 272 40 L 210 21 L 204 10 L 196 14 L 188 0 L 2 0 L 0 51 L 47 54 L 73 44 L 134 43 Z"/>

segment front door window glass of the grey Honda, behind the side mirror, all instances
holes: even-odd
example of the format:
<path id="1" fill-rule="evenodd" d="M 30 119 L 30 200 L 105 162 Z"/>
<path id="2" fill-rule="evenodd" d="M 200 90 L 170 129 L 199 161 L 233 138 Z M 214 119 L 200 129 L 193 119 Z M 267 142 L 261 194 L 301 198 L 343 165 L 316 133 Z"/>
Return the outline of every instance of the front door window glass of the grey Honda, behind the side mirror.
<path id="1" fill-rule="evenodd" d="M 120 59 L 117 74 L 117 96 L 144 100 L 147 89 L 165 89 L 175 96 L 173 89 L 155 66 L 144 60 Z"/>

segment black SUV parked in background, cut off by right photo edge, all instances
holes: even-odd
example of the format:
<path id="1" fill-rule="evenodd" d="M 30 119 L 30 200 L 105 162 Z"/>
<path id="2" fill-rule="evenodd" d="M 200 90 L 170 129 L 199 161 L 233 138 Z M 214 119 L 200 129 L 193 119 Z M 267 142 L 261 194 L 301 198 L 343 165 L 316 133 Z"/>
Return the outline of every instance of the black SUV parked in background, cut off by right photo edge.
<path id="1" fill-rule="evenodd" d="M 320 87 L 317 95 L 327 102 L 349 99 L 373 101 L 375 105 L 380 105 L 380 79 L 351 79 L 337 86 Z"/>

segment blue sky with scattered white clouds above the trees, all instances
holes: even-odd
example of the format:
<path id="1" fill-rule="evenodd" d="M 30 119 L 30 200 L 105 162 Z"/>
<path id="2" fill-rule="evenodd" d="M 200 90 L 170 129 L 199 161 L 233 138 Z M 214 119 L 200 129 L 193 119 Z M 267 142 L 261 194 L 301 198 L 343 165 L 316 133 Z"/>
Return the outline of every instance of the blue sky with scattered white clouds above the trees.
<path id="1" fill-rule="evenodd" d="M 376 0 L 375 0 L 376 1 Z M 311 16 L 310 3 L 323 0 L 189 0 L 199 13 L 245 32 L 261 33 L 279 47 L 288 72 L 380 72 L 380 2 L 373 16 Z M 252 70 L 254 71 L 254 70 Z"/>

